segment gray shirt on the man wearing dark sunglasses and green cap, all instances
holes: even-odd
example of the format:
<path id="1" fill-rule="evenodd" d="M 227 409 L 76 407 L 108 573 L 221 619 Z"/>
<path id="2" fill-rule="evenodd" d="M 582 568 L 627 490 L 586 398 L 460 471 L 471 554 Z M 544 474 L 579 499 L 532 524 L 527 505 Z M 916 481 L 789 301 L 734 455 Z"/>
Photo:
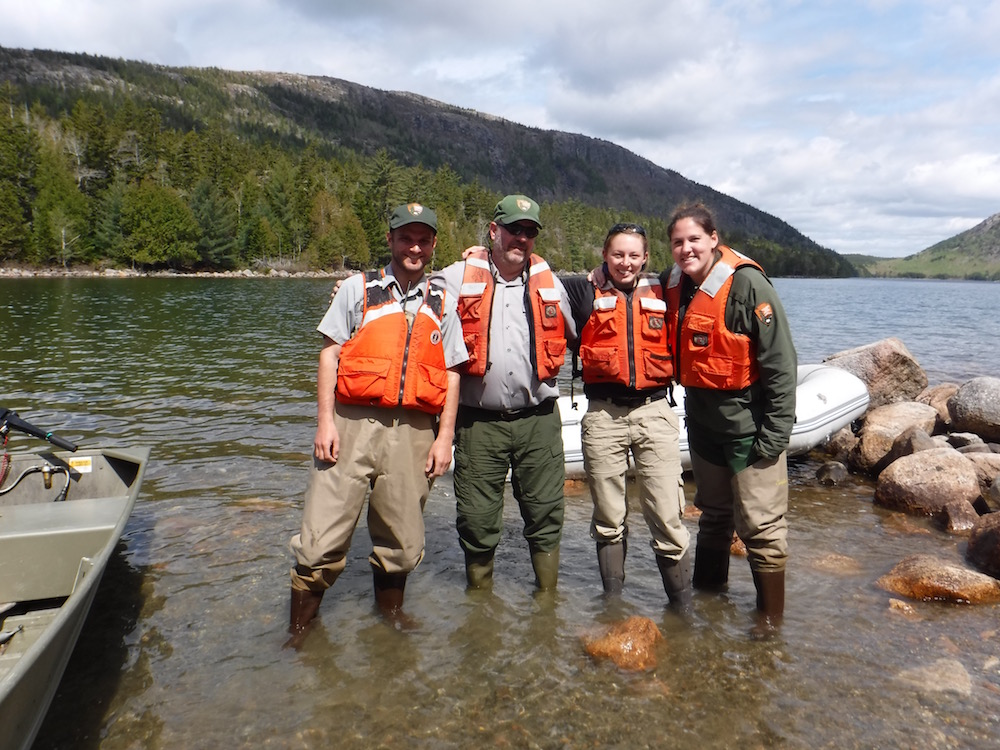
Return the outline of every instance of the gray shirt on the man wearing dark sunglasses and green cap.
<path id="1" fill-rule="evenodd" d="M 443 281 L 447 296 L 458 300 L 465 275 L 465 261 L 452 263 L 434 274 Z M 525 303 L 527 271 L 513 281 L 505 281 L 493 269 L 493 306 L 490 312 L 490 345 L 486 374 L 462 375 L 459 403 L 491 411 L 507 411 L 537 406 L 559 396 L 555 378 L 539 380 L 531 365 L 531 333 Z M 566 337 L 576 338 L 576 324 L 566 290 L 555 279 L 559 291 L 559 309 L 566 321 Z"/>

